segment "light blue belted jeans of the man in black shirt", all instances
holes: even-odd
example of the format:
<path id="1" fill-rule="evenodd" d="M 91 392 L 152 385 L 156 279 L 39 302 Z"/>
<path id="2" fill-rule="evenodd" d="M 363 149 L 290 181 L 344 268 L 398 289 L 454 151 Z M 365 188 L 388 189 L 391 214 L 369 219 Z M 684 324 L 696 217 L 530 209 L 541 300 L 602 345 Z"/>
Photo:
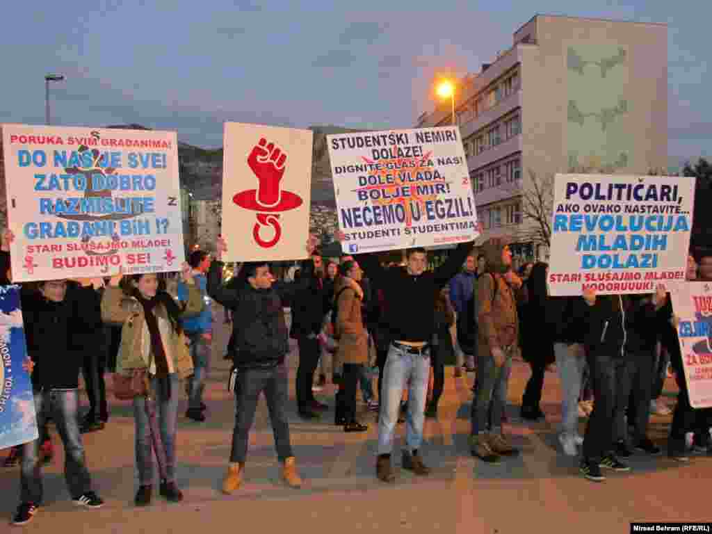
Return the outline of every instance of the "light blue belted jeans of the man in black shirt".
<path id="1" fill-rule="evenodd" d="M 378 417 L 378 454 L 391 454 L 393 434 L 398 423 L 403 389 L 410 381 L 406 416 L 406 447 L 417 451 L 423 441 L 425 401 L 430 376 L 430 349 L 421 354 L 391 345 L 383 369 L 381 411 Z"/>

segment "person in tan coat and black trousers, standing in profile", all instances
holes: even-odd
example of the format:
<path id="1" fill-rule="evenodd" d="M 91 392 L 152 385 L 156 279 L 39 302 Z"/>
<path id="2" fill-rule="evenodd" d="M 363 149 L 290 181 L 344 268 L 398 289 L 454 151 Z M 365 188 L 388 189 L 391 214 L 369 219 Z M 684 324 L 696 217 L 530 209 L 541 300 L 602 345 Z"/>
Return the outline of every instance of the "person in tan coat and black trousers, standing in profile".
<path id="1" fill-rule="evenodd" d="M 361 315 L 363 291 L 358 284 L 362 271 L 355 261 L 345 261 L 339 273 L 334 286 L 335 336 L 339 340 L 335 360 L 343 364 L 343 374 L 336 395 L 337 422 L 343 421 L 345 432 L 363 432 L 368 427 L 356 421 L 356 388 L 361 366 L 368 362 L 368 333 Z"/>

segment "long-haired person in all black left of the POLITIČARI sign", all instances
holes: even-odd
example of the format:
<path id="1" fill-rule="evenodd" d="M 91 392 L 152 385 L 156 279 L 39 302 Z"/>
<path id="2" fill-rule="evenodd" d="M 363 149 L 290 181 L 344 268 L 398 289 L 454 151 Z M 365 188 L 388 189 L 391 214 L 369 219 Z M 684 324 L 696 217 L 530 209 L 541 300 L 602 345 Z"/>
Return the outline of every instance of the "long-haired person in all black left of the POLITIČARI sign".
<path id="1" fill-rule="evenodd" d="M 522 328 L 522 356 L 531 367 L 532 374 L 522 397 L 523 419 L 542 419 L 540 407 L 546 366 L 555 361 L 553 332 L 546 321 L 548 300 L 546 273 L 548 264 L 535 263 L 529 278 L 525 281 L 528 300 L 522 307 L 520 325 Z"/>

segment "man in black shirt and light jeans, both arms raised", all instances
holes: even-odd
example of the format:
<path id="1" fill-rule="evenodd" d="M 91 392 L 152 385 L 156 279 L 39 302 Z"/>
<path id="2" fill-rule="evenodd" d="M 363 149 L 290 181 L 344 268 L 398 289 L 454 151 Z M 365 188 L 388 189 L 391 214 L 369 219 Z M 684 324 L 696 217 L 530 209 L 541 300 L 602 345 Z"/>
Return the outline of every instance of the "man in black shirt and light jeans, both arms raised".
<path id="1" fill-rule="evenodd" d="M 435 298 L 460 270 L 471 248 L 471 242 L 459 244 L 436 271 L 425 270 L 427 255 L 424 248 L 407 251 L 405 268 L 386 270 L 377 256 L 357 256 L 362 269 L 376 287 L 382 288 L 389 304 L 383 323 L 387 325 L 391 342 L 381 387 L 376 466 L 376 474 L 384 482 L 394 480 L 390 460 L 393 433 L 398 422 L 401 395 L 408 382 L 407 446 L 403 451 L 403 468 L 418 475 L 429 473 L 418 449 L 423 440 Z"/>

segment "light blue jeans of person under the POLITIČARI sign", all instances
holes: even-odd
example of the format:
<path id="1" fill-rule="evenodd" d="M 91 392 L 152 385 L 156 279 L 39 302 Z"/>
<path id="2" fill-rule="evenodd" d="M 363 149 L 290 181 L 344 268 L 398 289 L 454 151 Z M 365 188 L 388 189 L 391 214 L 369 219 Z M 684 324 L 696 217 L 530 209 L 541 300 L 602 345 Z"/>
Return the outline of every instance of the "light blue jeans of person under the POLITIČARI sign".
<path id="1" fill-rule="evenodd" d="M 556 369 L 561 382 L 561 432 L 578 434 L 578 399 L 581 393 L 586 356 L 583 345 L 554 344 Z"/>

